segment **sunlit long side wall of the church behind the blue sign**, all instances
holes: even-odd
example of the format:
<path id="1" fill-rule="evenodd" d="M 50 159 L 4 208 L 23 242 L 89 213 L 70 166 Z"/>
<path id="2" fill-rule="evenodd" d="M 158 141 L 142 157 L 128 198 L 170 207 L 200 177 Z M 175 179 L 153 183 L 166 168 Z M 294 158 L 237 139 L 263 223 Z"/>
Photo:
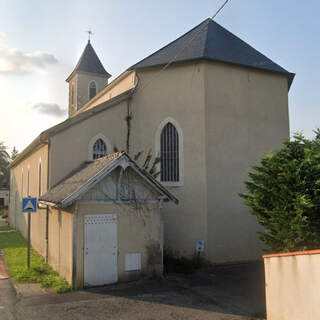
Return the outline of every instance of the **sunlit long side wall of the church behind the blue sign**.
<path id="1" fill-rule="evenodd" d="M 29 195 L 39 197 L 39 164 L 42 167 L 41 189 L 42 194 L 47 191 L 48 170 L 48 146 L 44 145 L 32 153 L 28 158 L 20 162 L 10 170 L 10 208 L 9 223 L 27 237 L 26 213 L 22 213 L 22 198 L 27 197 L 28 171 L 29 171 Z M 43 256 L 46 254 L 45 242 L 46 209 L 39 209 L 31 216 L 31 244 Z"/>

